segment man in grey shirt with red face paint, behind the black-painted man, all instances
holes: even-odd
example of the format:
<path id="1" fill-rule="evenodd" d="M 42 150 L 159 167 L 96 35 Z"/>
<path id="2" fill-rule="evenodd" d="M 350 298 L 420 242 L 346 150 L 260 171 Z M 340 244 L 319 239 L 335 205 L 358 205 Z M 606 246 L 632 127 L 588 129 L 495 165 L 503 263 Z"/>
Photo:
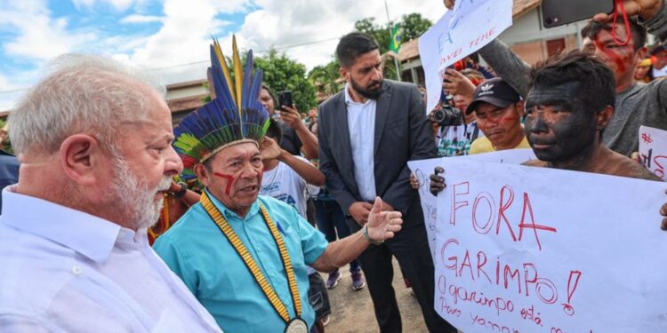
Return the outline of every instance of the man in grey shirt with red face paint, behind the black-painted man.
<path id="1" fill-rule="evenodd" d="M 452 9 L 454 1 L 446 1 Z M 630 31 L 623 18 L 614 24 L 613 15 L 599 13 L 582 29 L 582 50 L 594 54 L 614 72 L 615 113 L 602 132 L 602 143 L 622 155 L 639 150 L 639 126 L 667 130 L 667 81 L 656 80 L 640 85 L 634 72 L 645 59 L 647 29 L 660 40 L 667 38 L 667 7 L 664 0 L 624 0 Z M 630 37 L 628 39 L 628 37 Z M 628 39 L 627 44 L 623 44 Z M 479 50 L 479 54 L 518 93 L 526 96 L 530 67 L 497 39 Z"/>

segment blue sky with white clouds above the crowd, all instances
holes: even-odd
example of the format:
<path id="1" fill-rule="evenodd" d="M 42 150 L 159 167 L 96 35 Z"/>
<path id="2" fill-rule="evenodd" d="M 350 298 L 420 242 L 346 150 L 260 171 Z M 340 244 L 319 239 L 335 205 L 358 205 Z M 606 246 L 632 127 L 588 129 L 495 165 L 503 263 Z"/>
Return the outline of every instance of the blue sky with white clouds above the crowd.
<path id="1" fill-rule="evenodd" d="M 387 0 L 392 20 L 435 21 L 441 0 Z M 92 52 L 155 71 L 165 83 L 205 77 L 210 36 L 229 52 L 274 47 L 311 68 L 333 59 L 356 20 L 386 22 L 384 0 L 2 0 L 0 110 L 65 52 Z"/>

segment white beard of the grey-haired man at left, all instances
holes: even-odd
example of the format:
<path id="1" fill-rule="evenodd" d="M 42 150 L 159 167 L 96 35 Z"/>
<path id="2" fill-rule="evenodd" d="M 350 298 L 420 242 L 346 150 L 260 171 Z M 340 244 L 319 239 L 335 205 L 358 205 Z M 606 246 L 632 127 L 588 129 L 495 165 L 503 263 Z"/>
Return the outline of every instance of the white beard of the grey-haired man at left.
<path id="1" fill-rule="evenodd" d="M 148 188 L 141 184 L 122 156 L 115 157 L 114 180 L 109 194 L 115 202 L 114 205 L 125 210 L 129 217 L 128 227 L 139 230 L 153 226 L 160 217 L 165 202 L 162 199 L 156 201 L 156 194 L 169 189 L 172 178 L 165 176 L 156 187 Z"/>

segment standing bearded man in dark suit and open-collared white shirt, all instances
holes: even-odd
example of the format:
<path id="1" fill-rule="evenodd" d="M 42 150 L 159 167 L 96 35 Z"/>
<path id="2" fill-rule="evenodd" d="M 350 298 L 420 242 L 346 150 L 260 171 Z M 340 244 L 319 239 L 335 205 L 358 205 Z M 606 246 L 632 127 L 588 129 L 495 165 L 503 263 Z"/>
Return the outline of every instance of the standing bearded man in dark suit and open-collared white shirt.
<path id="1" fill-rule="evenodd" d="M 414 84 L 382 79 L 373 37 L 343 36 L 336 48 L 345 89 L 320 106 L 317 120 L 320 170 L 348 217 L 352 231 L 366 224 L 375 196 L 386 210 L 403 213 L 403 231 L 369 247 L 358 258 L 382 332 L 400 332 L 391 287 L 392 255 L 410 281 L 431 332 L 455 332 L 434 310 L 434 267 L 419 194 L 409 184 L 407 161 L 436 157 L 425 107 Z"/>

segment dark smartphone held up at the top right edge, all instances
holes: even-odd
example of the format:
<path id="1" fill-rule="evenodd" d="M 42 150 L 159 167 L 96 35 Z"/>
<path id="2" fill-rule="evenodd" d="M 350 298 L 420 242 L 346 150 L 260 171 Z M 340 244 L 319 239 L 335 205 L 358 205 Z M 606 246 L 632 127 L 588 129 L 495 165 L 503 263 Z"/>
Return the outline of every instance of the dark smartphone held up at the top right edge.
<path id="1" fill-rule="evenodd" d="M 614 0 L 542 0 L 542 24 L 554 28 L 614 12 Z"/>

